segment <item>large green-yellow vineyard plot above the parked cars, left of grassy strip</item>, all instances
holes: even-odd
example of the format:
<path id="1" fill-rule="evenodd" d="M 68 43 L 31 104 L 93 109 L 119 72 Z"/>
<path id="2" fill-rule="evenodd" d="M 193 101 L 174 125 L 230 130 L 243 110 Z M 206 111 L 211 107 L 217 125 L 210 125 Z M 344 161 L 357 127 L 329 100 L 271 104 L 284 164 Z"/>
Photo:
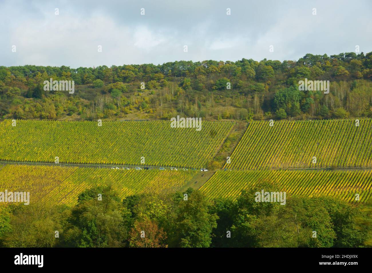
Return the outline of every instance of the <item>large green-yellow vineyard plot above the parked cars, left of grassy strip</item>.
<path id="1" fill-rule="evenodd" d="M 203 121 L 171 128 L 170 121 L 0 122 L 0 159 L 20 162 L 103 163 L 202 168 L 233 122 Z"/>

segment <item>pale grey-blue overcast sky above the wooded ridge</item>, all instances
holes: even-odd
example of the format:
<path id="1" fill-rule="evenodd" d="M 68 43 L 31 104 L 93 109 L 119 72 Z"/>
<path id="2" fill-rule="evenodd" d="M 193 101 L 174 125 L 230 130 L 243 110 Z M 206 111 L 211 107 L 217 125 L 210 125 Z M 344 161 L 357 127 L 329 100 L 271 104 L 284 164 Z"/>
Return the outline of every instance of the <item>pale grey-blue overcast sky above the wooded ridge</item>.
<path id="1" fill-rule="evenodd" d="M 367 53 L 371 14 L 369 0 L 0 0 L 0 65 L 283 61 L 356 45 Z"/>

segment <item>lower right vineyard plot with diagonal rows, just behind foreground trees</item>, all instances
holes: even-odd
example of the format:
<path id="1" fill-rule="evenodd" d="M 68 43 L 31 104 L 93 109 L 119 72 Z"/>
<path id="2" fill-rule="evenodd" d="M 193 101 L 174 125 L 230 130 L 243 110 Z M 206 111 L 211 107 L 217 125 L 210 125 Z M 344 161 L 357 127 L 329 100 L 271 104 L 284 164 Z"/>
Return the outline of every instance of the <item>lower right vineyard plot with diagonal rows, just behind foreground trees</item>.
<path id="1" fill-rule="evenodd" d="M 355 202 L 372 199 L 372 170 L 236 170 L 217 171 L 199 189 L 209 199 L 236 199 L 243 189 L 269 179 L 287 196 L 336 196 Z"/>

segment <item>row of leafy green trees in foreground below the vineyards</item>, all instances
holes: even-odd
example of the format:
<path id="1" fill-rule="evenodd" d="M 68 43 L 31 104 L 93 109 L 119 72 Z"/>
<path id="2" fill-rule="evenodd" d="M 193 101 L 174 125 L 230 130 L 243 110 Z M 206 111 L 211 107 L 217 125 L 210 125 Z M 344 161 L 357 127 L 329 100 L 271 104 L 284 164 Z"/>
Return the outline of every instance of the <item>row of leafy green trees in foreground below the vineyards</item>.
<path id="1" fill-rule="evenodd" d="M 81 193 L 74 207 L 0 206 L 0 246 L 371 246 L 370 207 L 327 197 L 256 202 L 254 193 L 262 189 L 277 191 L 272 182 L 260 181 L 236 201 L 212 203 L 191 188 L 121 200 L 110 186 L 98 186 Z"/>

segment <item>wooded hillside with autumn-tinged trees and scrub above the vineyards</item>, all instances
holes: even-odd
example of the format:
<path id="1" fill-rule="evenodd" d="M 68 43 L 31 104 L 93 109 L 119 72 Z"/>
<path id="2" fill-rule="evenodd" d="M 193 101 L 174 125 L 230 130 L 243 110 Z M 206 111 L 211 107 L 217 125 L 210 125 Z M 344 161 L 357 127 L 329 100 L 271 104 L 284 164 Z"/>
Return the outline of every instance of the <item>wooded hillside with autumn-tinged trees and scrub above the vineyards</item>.
<path id="1" fill-rule="evenodd" d="M 45 91 L 71 80 L 75 93 Z M 330 93 L 300 91 L 305 78 L 329 80 Z M 206 119 L 372 117 L 372 52 L 306 54 L 298 61 L 176 61 L 70 68 L 0 66 L 0 117 Z M 141 84 L 143 83 L 143 84 Z M 141 88 L 142 87 L 142 88 Z M 228 89 L 230 87 L 230 89 Z"/>

